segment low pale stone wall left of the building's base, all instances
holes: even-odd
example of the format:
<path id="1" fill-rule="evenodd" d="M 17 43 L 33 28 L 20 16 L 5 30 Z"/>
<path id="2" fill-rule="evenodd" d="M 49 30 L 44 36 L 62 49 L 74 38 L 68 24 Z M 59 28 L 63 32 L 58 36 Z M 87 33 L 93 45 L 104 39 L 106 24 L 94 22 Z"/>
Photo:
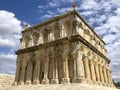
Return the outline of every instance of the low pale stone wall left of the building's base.
<path id="1" fill-rule="evenodd" d="M 0 88 L 12 85 L 14 75 L 0 74 Z"/>

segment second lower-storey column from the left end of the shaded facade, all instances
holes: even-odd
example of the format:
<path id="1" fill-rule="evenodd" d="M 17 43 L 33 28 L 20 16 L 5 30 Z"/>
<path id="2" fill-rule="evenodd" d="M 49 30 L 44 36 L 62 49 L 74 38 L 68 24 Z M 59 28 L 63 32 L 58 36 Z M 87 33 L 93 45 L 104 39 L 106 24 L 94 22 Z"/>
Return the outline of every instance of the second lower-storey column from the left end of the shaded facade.
<path id="1" fill-rule="evenodd" d="M 20 74 L 19 85 L 24 85 L 26 65 L 27 65 L 27 62 L 22 62 L 22 70 Z"/>

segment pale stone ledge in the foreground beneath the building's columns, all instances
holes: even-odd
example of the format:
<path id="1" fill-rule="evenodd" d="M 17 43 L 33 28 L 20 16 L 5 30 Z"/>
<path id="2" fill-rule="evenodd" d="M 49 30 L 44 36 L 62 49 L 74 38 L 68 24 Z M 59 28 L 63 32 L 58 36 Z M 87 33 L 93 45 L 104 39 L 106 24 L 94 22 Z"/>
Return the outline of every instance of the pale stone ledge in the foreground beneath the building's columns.
<path id="1" fill-rule="evenodd" d="M 54 84 L 54 85 L 18 85 L 1 88 L 0 90 L 119 90 L 98 85 L 88 84 Z"/>

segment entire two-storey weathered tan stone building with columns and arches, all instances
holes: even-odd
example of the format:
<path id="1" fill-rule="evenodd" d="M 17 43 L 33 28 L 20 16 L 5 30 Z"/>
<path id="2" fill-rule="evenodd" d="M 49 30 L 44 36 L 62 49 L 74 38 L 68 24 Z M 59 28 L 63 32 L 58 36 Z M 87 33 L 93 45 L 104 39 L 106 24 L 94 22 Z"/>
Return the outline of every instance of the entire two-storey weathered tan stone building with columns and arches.
<path id="1" fill-rule="evenodd" d="M 15 85 L 86 83 L 114 86 L 105 42 L 74 8 L 26 27 L 16 54 Z"/>

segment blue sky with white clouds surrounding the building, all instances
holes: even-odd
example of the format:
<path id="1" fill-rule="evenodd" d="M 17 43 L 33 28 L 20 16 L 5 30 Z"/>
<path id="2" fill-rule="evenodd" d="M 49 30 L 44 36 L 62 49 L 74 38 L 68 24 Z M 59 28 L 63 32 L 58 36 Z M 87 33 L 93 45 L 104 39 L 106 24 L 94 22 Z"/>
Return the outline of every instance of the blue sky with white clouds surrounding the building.
<path id="1" fill-rule="evenodd" d="M 14 74 L 23 23 L 37 24 L 71 10 L 77 11 L 103 36 L 112 77 L 120 81 L 120 0 L 0 0 L 0 73 Z"/>

